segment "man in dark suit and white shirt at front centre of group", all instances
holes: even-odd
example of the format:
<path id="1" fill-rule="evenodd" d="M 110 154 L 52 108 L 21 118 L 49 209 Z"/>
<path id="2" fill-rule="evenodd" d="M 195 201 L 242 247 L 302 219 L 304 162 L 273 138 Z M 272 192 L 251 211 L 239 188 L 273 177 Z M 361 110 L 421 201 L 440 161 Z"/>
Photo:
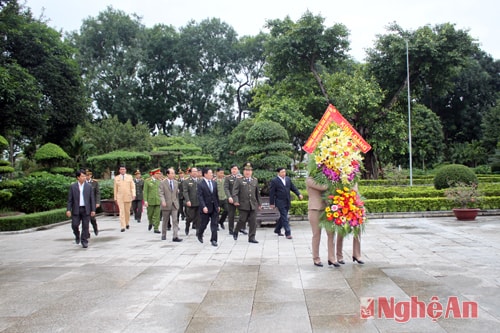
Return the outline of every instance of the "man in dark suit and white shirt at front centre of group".
<path id="1" fill-rule="evenodd" d="M 203 168 L 201 170 L 202 179 L 198 183 L 198 203 L 200 208 L 201 225 L 198 226 L 196 236 L 200 243 L 203 243 L 203 233 L 210 221 L 210 243 L 217 246 L 217 227 L 219 219 L 219 196 L 217 194 L 217 182 L 213 181 L 212 169 Z"/>

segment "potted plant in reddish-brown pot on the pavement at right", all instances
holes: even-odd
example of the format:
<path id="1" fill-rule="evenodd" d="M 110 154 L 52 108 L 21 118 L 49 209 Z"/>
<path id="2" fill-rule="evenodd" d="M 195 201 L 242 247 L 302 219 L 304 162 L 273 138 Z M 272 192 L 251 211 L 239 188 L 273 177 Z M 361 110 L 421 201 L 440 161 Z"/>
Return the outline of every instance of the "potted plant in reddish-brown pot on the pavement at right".
<path id="1" fill-rule="evenodd" d="M 457 220 L 473 221 L 479 213 L 479 190 L 476 183 L 467 184 L 458 182 L 445 190 L 448 200 L 453 202 L 453 213 Z"/>

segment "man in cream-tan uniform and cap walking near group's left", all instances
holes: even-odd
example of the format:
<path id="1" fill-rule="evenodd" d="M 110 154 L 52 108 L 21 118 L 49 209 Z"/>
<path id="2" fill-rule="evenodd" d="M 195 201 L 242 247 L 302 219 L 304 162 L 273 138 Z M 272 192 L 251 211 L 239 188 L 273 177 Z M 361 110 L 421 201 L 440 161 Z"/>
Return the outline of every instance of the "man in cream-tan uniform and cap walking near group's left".
<path id="1" fill-rule="evenodd" d="M 118 176 L 115 177 L 114 199 L 120 210 L 121 232 L 124 232 L 125 228 L 130 228 L 130 208 L 135 199 L 135 184 L 132 176 L 127 175 L 127 168 L 124 165 L 120 166 L 119 172 Z"/>

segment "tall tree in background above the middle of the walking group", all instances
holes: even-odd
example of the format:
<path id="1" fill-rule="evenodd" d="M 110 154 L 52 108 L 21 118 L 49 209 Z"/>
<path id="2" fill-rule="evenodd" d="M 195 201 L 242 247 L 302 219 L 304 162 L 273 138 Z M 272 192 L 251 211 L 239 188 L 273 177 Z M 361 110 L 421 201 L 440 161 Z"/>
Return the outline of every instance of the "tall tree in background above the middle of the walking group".
<path id="1" fill-rule="evenodd" d="M 203 134 L 218 112 L 232 112 L 229 67 L 235 62 L 237 34 L 219 19 L 191 21 L 180 29 L 183 94 L 178 107 L 185 129 Z"/>

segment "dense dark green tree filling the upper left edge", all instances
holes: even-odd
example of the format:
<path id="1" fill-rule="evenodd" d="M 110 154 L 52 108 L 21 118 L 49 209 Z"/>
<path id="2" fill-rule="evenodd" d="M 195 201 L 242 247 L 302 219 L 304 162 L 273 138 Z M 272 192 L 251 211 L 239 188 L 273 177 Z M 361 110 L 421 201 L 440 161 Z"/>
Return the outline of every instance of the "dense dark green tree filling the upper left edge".
<path id="1" fill-rule="evenodd" d="M 56 30 L 8 1 L 0 11 L 0 104 L 10 142 L 61 143 L 86 118 L 74 50 Z"/>

